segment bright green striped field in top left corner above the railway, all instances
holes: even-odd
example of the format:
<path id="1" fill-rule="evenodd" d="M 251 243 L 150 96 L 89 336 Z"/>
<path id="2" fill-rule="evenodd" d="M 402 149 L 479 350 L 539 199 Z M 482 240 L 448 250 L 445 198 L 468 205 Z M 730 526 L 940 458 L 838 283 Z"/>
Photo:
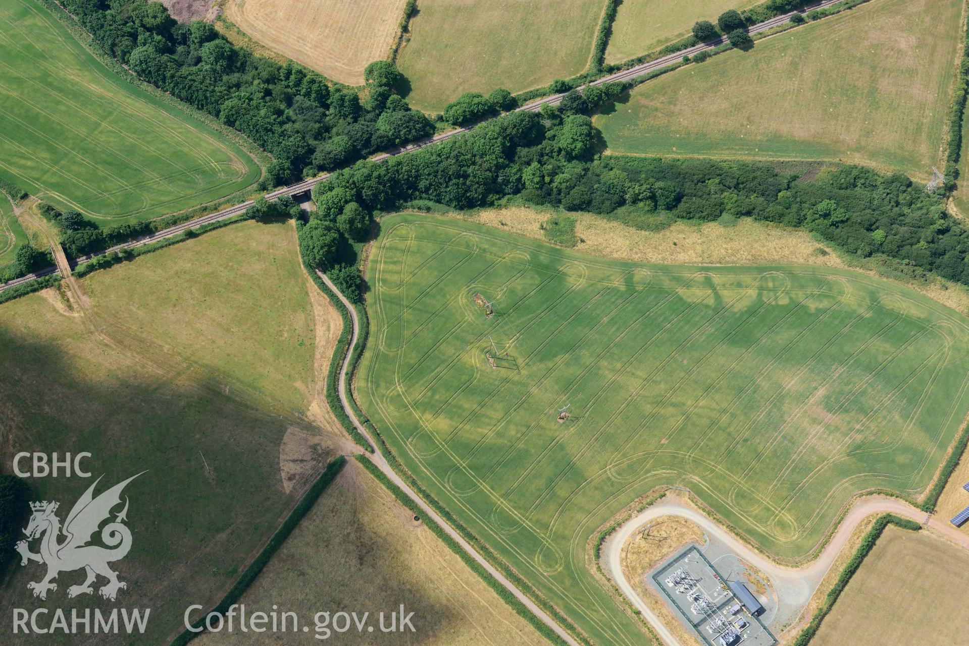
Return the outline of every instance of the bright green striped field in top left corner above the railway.
<path id="1" fill-rule="evenodd" d="M 0 176 L 100 224 L 254 184 L 237 145 L 102 65 L 37 0 L 0 7 Z"/>

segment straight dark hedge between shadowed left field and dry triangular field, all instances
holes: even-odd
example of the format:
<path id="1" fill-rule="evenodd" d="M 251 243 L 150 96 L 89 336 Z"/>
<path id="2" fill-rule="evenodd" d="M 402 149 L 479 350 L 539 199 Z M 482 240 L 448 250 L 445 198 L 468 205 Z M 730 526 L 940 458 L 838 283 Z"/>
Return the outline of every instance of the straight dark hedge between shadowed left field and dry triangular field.
<path id="1" fill-rule="evenodd" d="M 329 461 L 327 467 L 320 474 L 319 478 L 310 485 L 306 490 L 306 493 L 297 501 L 286 519 L 283 520 L 282 524 L 276 529 L 276 531 L 269 537 L 269 540 L 260 550 L 259 554 L 254 558 L 245 570 L 236 579 L 232 588 L 226 593 L 222 601 L 219 602 L 215 607 L 213 607 L 208 612 L 203 613 L 202 617 L 192 623 L 192 627 L 196 630 L 191 630 L 186 628 L 181 631 L 178 636 L 172 640 L 172 646 L 183 646 L 188 642 L 192 641 L 195 637 L 199 636 L 204 631 L 205 618 L 210 614 L 224 615 L 229 611 L 230 607 L 237 602 L 245 591 L 252 585 L 256 577 L 259 576 L 266 564 L 272 558 L 272 556 L 279 550 L 279 548 L 286 542 L 293 530 L 296 529 L 299 521 L 302 520 L 303 516 L 309 513 L 316 504 L 316 501 L 320 498 L 320 495 L 327 489 L 330 483 L 340 474 L 340 471 L 346 465 L 347 458 L 343 455 L 337 455 L 335 458 Z"/>

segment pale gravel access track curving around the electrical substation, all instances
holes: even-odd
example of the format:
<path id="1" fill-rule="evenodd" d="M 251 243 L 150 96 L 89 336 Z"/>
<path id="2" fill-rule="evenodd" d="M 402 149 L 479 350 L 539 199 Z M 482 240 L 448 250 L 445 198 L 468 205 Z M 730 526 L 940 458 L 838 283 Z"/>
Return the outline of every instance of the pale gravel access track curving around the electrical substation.
<path id="1" fill-rule="evenodd" d="M 861 521 L 872 514 L 896 514 L 905 518 L 911 518 L 920 523 L 925 519 L 924 512 L 897 498 L 884 496 L 861 498 L 849 510 L 848 514 L 845 515 L 844 520 L 842 520 L 818 558 L 803 567 L 793 568 L 782 566 L 769 560 L 764 554 L 747 543 L 740 541 L 734 534 L 725 530 L 706 514 L 677 502 L 675 499 L 664 500 L 653 505 L 641 514 L 634 516 L 616 530 L 616 533 L 610 538 L 609 551 L 607 553 L 609 573 L 616 582 L 616 585 L 619 586 L 622 594 L 641 611 L 642 616 L 653 627 L 653 630 L 659 633 L 664 643 L 667 646 L 682 646 L 675 635 L 659 620 L 656 613 L 642 601 L 640 595 L 622 572 L 622 546 L 644 524 L 664 515 L 675 515 L 691 520 L 698 524 L 708 536 L 726 543 L 742 560 L 747 561 L 761 572 L 766 573 L 767 577 L 772 579 L 775 584 L 783 584 L 784 589 L 789 591 L 785 602 L 806 605 L 821 584 L 822 579 L 824 579 L 830 570 L 835 559 L 841 553 L 841 550 L 848 543 L 855 528 L 858 527 Z M 928 526 L 929 529 L 969 549 L 969 537 L 956 531 L 948 523 L 938 518 L 932 518 L 929 520 Z"/>

